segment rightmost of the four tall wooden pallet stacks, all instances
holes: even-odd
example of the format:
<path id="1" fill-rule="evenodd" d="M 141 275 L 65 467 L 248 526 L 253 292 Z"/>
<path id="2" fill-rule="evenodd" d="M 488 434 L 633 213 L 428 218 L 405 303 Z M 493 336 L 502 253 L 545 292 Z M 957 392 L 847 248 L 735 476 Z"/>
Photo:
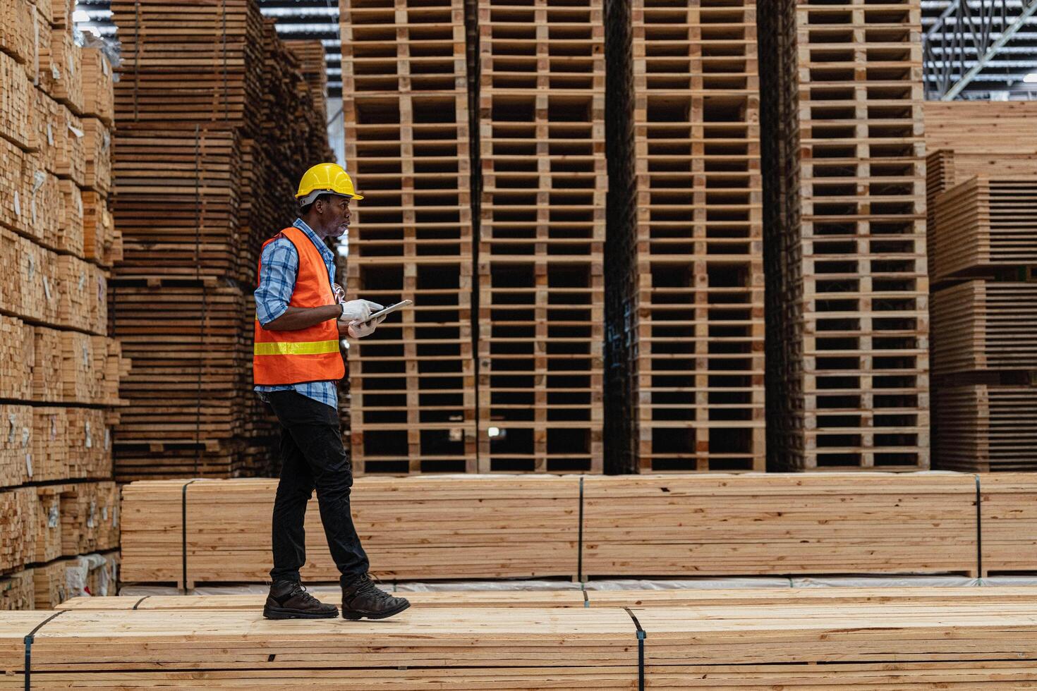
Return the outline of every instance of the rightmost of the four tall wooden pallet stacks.
<path id="1" fill-rule="evenodd" d="M 759 11 L 769 462 L 926 468 L 920 3 Z"/>

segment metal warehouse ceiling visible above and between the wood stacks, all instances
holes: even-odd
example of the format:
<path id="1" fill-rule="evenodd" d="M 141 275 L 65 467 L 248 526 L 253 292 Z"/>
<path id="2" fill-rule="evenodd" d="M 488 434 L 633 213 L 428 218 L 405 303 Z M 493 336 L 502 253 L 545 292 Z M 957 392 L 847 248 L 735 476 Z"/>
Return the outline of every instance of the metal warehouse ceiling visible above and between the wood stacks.
<path id="1" fill-rule="evenodd" d="M 342 89 L 336 0 L 260 0 L 283 38 L 319 39 L 329 95 Z M 79 0 L 77 25 L 115 34 L 109 0 Z M 926 97 L 1037 98 L 1037 0 L 922 0 Z"/>

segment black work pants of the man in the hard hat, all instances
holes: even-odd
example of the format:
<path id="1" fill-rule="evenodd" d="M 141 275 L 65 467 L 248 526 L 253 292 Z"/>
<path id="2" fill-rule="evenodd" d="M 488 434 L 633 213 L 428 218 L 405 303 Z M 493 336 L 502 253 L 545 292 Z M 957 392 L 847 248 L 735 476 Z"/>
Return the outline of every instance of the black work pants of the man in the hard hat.
<path id="1" fill-rule="evenodd" d="M 353 469 L 342 447 L 338 411 L 295 391 L 267 394 L 281 423 L 281 480 L 274 500 L 274 580 L 300 580 L 306 564 L 306 502 L 314 487 L 335 566 L 348 585 L 368 569 L 349 513 Z"/>

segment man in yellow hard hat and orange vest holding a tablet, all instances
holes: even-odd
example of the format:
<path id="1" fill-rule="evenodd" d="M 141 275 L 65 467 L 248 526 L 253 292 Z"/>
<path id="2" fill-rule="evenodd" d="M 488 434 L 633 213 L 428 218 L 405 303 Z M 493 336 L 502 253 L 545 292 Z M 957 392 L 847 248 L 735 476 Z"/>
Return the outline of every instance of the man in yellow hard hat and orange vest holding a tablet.
<path id="1" fill-rule="evenodd" d="M 320 522 L 341 574 L 342 616 L 385 618 L 411 606 L 379 588 L 349 512 L 353 471 L 338 421 L 338 380 L 345 375 L 339 339 L 369 336 L 382 306 L 345 300 L 335 285 L 335 255 L 325 238 L 349 226 L 349 202 L 363 199 L 335 164 L 313 166 L 299 183 L 299 218 L 263 244 L 255 291 L 252 370 L 259 398 L 281 425 L 281 478 L 274 500 L 273 581 L 267 618 L 331 618 L 338 609 L 314 598 L 299 573 L 306 563 L 303 522 L 317 491 Z M 384 319 L 384 317 L 383 317 Z"/>

